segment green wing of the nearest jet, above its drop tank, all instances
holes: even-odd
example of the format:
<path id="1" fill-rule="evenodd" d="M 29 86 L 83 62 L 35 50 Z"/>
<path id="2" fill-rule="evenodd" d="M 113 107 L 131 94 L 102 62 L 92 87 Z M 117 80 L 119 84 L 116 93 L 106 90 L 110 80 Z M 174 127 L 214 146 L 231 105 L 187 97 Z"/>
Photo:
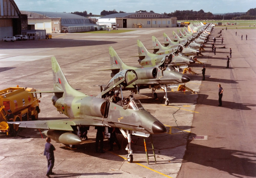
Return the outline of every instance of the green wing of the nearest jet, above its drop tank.
<path id="1" fill-rule="evenodd" d="M 102 124 L 99 118 L 75 118 L 75 119 L 59 119 L 59 120 L 35 120 L 35 121 L 19 121 L 8 122 L 9 124 L 18 124 L 19 127 L 35 128 L 35 129 L 51 129 L 51 130 L 65 130 L 73 131 L 71 126 L 107 126 Z"/>

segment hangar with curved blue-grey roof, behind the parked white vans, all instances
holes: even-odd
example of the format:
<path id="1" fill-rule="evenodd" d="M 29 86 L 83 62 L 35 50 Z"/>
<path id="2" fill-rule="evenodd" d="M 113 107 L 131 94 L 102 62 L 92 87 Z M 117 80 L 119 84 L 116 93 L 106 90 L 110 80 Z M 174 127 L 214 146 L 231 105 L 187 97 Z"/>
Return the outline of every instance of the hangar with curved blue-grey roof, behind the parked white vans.
<path id="1" fill-rule="evenodd" d="M 89 18 L 84 18 L 72 13 L 20 11 L 28 17 L 28 29 L 46 30 L 46 33 L 74 33 L 94 31 L 101 28 Z M 104 28 L 104 26 L 102 27 Z"/>

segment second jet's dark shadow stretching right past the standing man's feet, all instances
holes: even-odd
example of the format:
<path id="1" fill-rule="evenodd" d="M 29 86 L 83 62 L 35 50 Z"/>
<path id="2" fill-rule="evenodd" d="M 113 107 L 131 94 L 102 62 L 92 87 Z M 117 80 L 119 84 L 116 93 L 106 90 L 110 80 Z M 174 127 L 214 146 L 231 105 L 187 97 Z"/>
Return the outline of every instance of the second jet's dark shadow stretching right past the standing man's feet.
<path id="1" fill-rule="evenodd" d="M 186 93 L 186 94 L 184 94 Z M 207 94 L 191 94 L 191 92 L 184 92 L 183 94 L 179 94 L 178 92 L 168 92 L 168 98 L 169 98 L 169 106 L 179 106 L 184 105 L 184 103 L 187 104 L 203 104 L 203 105 L 209 105 L 209 106 L 218 106 L 219 104 L 219 98 L 218 93 L 216 94 L 216 100 L 213 99 L 207 99 L 209 95 Z M 155 103 L 155 104 L 164 104 L 165 100 L 163 99 L 164 93 L 157 93 L 158 100 L 154 100 L 151 95 L 151 93 L 140 93 L 142 95 L 146 95 L 150 98 L 143 98 L 140 99 L 141 103 Z M 193 100 L 191 100 L 191 96 L 198 95 L 199 100 L 197 103 L 192 103 Z M 200 99 L 201 98 L 201 99 Z M 139 99 L 139 98 L 138 98 Z M 192 102 L 190 102 L 192 101 Z M 182 104 L 181 104 L 182 103 Z M 225 95 L 222 98 L 222 107 L 230 108 L 234 110 L 251 110 L 249 106 L 256 106 L 256 104 L 253 103 L 236 103 L 236 102 L 230 102 L 225 101 Z"/>

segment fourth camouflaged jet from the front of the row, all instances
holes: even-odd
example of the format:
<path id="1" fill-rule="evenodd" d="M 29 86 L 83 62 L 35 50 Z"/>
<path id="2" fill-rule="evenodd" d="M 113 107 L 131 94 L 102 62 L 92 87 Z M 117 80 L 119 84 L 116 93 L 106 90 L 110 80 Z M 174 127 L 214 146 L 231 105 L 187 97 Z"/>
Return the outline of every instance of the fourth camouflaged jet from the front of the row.
<path id="1" fill-rule="evenodd" d="M 185 56 L 188 57 L 194 57 L 194 55 L 198 55 L 201 53 L 201 51 L 194 49 L 188 45 L 188 47 L 182 46 L 182 45 L 172 45 L 165 47 L 161 45 L 161 43 L 157 40 L 155 36 L 152 36 L 152 41 L 153 41 L 153 49 L 155 54 L 169 54 L 173 53 L 175 48 L 178 47 L 178 53 L 182 52 Z M 173 56 L 173 58 L 175 58 Z"/>

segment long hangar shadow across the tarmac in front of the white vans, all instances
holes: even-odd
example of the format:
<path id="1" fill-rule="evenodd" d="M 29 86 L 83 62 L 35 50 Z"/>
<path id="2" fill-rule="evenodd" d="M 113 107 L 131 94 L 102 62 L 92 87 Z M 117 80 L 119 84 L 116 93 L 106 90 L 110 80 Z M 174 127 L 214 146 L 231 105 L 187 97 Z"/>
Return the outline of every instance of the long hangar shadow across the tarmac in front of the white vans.
<path id="1" fill-rule="evenodd" d="M 79 39 L 47 39 L 15 41 L 14 43 L 0 42 L 2 49 L 34 49 L 34 48 L 65 48 L 78 46 L 110 45 L 117 42 Z"/>

